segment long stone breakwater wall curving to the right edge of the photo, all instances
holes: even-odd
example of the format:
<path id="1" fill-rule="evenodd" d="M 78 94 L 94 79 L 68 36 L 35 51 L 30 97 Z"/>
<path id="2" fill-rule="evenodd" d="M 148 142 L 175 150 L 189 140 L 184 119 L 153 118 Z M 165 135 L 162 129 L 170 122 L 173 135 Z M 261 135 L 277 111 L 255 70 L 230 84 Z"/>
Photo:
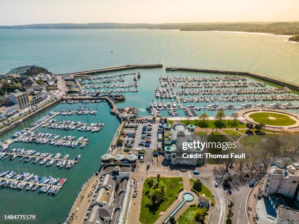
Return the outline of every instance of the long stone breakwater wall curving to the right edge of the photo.
<path id="1" fill-rule="evenodd" d="M 260 79 L 263 81 L 269 81 L 274 84 L 278 84 L 281 86 L 286 86 L 290 89 L 299 91 L 299 84 L 284 81 L 280 79 L 276 79 L 270 76 L 260 76 L 256 74 L 252 74 L 249 72 L 239 72 L 239 71 L 224 71 L 224 70 L 212 70 L 212 69 L 200 69 L 200 68 L 178 68 L 178 67 L 167 67 L 166 71 L 187 71 L 187 72 L 203 72 L 203 73 L 215 73 L 215 74 L 225 74 L 225 75 L 242 75 L 242 76 L 250 76 L 256 79 Z"/>

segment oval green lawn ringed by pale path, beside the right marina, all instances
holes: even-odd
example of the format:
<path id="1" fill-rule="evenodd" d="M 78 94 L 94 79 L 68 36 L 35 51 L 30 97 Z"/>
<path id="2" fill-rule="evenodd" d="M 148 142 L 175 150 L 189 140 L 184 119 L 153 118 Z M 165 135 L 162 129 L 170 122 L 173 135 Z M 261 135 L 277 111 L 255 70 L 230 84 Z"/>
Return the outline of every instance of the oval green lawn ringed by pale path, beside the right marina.
<path id="1" fill-rule="evenodd" d="M 290 117 L 277 113 L 260 112 L 251 114 L 249 115 L 249 117 L 252 118 L 255 122 L 268 125 L 288 126 L 296 123 L 296 121 L 291 119 Z"/>

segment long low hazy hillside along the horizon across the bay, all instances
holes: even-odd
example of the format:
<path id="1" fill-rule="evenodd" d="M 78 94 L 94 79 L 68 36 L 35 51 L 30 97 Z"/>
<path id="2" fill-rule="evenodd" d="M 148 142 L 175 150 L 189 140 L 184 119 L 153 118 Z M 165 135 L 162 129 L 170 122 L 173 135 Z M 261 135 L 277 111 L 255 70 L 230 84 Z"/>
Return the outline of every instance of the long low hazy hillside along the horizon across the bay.
<path id="1" fill-rule="evenodd" d="M 299 35 L 299 22 L 213 22 L 213 23 L 51 23 L 0 26 L 0 29 L 179 29 L 181 31 L 240 31 Z"/>

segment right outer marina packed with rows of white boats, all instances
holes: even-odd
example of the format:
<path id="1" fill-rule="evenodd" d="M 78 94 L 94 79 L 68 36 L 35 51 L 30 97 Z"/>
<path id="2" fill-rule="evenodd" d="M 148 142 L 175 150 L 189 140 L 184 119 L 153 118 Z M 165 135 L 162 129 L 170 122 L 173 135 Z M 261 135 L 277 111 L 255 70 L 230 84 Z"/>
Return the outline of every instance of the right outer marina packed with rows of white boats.
<path id="1" fill-rule="evenodd" d="M 154 90 L 157 101 L 152 100 L 147 107 L 151 116 L 197 117 L 196 111 L 201 110 L 299 109 L 299 105 L 294 104 L 299 96 L 292 94 L 288 87 L 269 86 L 245 76 L 180 75 L 160 77 L 159 82 L 161 87 Z"/>

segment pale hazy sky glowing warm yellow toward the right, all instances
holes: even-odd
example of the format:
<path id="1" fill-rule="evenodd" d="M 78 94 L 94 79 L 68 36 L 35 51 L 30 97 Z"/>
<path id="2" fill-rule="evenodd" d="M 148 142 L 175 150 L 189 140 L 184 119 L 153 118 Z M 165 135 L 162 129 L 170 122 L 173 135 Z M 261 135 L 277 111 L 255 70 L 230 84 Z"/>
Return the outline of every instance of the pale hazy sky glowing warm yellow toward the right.
<path id="1" fill-rule="evenodd" d="M 299 0 L 0 0 L 0 25 L 299 21 Z"/>

